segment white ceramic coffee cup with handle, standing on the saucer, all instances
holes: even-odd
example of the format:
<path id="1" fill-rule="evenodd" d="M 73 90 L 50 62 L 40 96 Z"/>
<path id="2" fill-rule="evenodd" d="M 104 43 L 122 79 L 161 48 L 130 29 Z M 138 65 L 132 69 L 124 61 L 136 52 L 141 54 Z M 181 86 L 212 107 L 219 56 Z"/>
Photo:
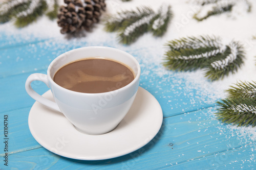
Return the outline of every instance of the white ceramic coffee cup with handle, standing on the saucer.
<path id="1" fill-rule="evenodd" d="M 56 71 L 62 66 L 92 57 L 111 59 L 129 66 L 135 74 L 135 79 L 122 88 L 103 93 L 76 92 L 53 81 Z M 77 48 L 58 56 L 49 65 L 47 75 L 30 75 L 25 87 L 33 99 L 62 112 L 80 132 L 99 135 L 115 129 L 129 111 L 139 87 L 139 79 L 140 65 L 132 55 L 112 47 L 91 46 Z M 35 80 L 44 82 L 51 89 L 56 103 L 32 89 L 31 83 Z"/>

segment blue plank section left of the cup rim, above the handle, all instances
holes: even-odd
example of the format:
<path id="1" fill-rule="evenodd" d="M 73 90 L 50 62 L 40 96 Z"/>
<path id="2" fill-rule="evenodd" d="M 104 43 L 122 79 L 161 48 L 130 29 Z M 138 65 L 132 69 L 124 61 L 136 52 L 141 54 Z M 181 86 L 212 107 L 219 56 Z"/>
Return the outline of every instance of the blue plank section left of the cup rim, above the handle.
<path id="1" fill-rule="evenodd" d="M 35 70 L 46 72 L 53 59 L 73 48 L 69 44 L 54 44 L 50 40 L 0 50 L 0 78 Z"/>

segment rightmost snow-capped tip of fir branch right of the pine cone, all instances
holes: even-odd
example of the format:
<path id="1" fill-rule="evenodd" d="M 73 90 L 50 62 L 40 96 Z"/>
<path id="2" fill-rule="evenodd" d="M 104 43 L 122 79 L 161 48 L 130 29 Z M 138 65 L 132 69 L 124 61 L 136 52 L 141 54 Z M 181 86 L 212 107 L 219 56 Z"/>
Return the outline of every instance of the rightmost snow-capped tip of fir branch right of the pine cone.
<path id="1" fill-rule="evenodd" d="M 160 7 L 158 14 L 151 20 L 150 30 L 155 36 L 162 36 L 169 25 L 169 21 L 173 17 L 173 11 L 168 5 Z"/>

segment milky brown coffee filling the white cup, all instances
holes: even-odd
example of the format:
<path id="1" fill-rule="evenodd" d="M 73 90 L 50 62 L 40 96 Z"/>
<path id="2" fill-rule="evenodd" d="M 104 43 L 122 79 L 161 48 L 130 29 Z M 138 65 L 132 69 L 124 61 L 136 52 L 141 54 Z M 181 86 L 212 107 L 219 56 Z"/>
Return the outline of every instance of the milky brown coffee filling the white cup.
<path id="1" fill-rule="evenodd" d="M 61 87 L 84 93 L 116 90 L 134 80 L 129 66 L 114 60 L 88 58 L 61 67 L 53 81 Z"/>

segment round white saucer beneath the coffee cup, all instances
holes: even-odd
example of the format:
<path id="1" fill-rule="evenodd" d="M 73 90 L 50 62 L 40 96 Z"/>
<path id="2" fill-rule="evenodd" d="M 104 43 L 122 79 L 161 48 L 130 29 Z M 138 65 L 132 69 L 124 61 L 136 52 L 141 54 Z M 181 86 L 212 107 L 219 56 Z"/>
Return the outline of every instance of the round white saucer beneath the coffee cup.
<path id="1" fill-rule="evenodd" d="M 43 96 L 53 101 L 51 91 Z M 102 160 L 115 158 L 143 147 L 161 128 L 163 113 L 154 96 L 139 87 L 135 101 L 113 131 L 103 135 L 79 132 L 60 112 L 35 102 L 29 113 L 29 129 L 47 150 L 68 158 Z"/>

